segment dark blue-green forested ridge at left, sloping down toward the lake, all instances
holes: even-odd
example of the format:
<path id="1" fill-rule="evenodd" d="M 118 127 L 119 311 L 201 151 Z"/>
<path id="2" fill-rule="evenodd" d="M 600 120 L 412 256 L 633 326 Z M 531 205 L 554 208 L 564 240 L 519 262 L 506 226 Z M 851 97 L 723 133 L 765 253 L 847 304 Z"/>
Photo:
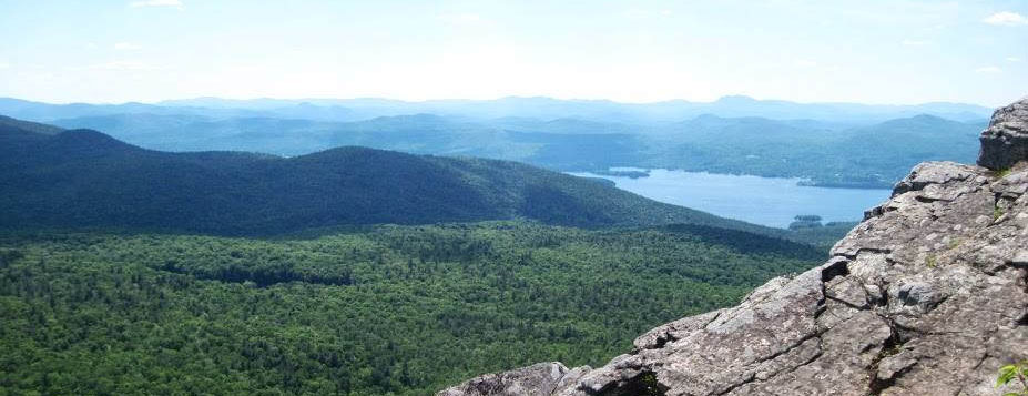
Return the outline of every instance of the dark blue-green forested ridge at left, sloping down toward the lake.
<path id="1" fill-rule="evenodd" d="M 167 153 L 92 130 L 24 125 L 31 128 L 7 122 L 0 130 L 4 229 L 31 224 L 251 235 L 347 224 L 528 219 L 574 226 L 691 223 L 774 233 L 515 162 L 365 148 L 289 159 Z"/>

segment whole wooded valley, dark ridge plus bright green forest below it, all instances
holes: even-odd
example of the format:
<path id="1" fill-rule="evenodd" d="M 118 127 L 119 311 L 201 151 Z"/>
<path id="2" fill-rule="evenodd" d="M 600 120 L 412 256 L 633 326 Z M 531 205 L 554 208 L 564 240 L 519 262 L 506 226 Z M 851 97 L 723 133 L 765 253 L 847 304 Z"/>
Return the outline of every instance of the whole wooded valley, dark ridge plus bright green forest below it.
<path id="1" fill-rule="evenodd" d="M 14 393 L 424 395 L 599 364 L 841 237 L 500 160 L 173 153 L 16 119 L 0 150 Z"/>

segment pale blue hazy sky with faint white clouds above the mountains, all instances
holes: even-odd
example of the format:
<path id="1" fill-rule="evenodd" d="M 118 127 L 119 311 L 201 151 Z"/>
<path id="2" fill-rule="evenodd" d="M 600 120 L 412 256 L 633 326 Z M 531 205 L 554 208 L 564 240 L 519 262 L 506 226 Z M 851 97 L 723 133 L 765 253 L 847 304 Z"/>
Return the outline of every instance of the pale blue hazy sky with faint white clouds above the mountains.
<path id="1" fill-rule="evenodd" d="M 0 97 L 1001 105 L 1028 1 L 0 0 Z"/>

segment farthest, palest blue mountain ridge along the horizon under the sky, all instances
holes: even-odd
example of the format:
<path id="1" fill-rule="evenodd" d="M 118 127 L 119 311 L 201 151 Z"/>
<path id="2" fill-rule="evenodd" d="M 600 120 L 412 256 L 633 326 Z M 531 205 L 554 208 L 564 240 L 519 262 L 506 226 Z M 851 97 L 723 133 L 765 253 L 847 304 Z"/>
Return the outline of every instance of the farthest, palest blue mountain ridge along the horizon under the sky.
<path id="1" fill-rule="evenodd" d="M 678 122 L 702 114 L 725 118 L 760 116 L 773 120 L 810 119 L 864 124 L 895 118 L 929 114 L 956 121 L 987 119 L 993 109 L 964 103 L 877 105 L 858 103 L 796 103 L 725 97 L 713 102 L 674 100 L 619 103 L 607 100 L 559 100 L 510 97 L 497 100 L 431 100 L 406 102 L 388 99 L 252 99 L 197 98 L 155 104 L 49 104 L 0 98 L 0 114 L 32 121 L 110 114 L 194 114 L 207 116 L 271 116 L 317 121 L 360 121 L 377 116 L 430 113 L 492 120 L 530 118 L 543 121 L 581 119 L 601 122 L 652 124 Z"/>

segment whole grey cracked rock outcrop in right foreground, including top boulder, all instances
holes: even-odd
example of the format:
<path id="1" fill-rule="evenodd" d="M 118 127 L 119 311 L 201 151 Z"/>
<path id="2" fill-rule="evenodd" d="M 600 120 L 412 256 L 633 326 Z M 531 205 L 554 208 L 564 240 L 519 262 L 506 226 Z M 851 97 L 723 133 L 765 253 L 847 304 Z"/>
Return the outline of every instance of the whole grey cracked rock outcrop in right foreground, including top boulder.
<path id="1" fill-rule="evenodd" d="M 997 395 L 1028 358 L 1028 103 L 979 164 L 929 162 L 832 250 L 731 308 L 659 326 L 599 368 L 490 374 L 439 395 Z M 988 142 L 988 143 L 987 143 Z"/>

